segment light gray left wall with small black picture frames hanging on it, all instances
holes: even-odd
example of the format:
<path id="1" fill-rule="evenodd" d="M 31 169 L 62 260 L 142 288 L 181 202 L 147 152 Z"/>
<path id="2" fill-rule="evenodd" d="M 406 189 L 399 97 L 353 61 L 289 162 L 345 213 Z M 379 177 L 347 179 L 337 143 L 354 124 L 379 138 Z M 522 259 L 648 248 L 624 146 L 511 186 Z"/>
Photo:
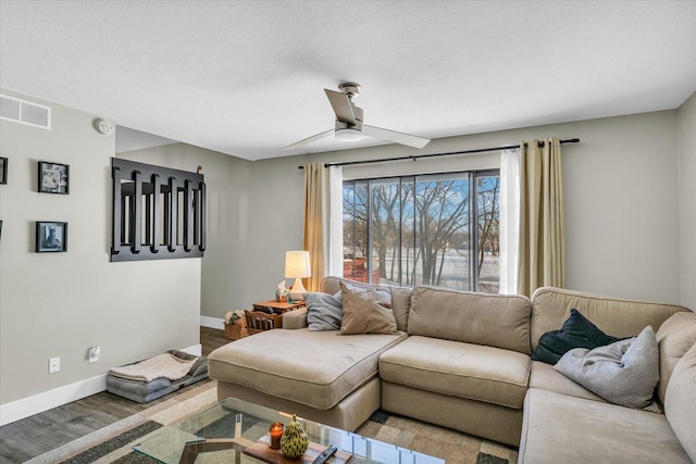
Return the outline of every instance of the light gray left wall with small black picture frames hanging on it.
<path id="1" fill-rule="evenodd" d="M 3 90 L 3 93 L 14 95 Z M 21 96 L 17 96 L 21 97 Z M 52 108 L 52 130 L 0 121 L 0 403 L 199 343 L 201 260 L 110 263 L 114 137 Z M 37 192 L 37 161 L 70 164 L 70 195 Z M 66 253 L 35 253 L 35 222 L 69 222 Z M 100 344 L 101 360 L 87 362 Z M 48 374 L 49 358 L 61 371 Z"/>

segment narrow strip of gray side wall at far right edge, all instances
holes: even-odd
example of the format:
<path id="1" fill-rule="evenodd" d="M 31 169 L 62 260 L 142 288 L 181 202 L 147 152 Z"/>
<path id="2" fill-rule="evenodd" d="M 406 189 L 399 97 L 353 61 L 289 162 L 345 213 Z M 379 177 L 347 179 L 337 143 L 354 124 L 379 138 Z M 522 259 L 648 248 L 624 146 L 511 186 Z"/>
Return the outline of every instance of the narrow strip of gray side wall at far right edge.
<path id="1" fill-rule="evenodd" d="M 682 303 L 696 311 L 696 93 L 678 112 Z"/>

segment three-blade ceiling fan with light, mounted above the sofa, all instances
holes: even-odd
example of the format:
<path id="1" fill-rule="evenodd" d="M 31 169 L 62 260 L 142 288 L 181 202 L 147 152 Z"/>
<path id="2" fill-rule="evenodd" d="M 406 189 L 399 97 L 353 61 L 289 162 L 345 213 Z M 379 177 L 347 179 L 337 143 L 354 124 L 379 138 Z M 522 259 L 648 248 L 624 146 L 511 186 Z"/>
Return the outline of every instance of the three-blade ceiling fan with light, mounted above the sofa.
<path id="1" fill-rule="evenodd" d="M 410 134 L 397 133 L 395 130 L 362 124 L 362 109 L 356 106 L 352 102 L 352 99 L 357 98 L 360 93 L 360 84 L 344 83 L 338 86 L 338 90 L 340 91 L 324 89 L 326 97 L 328 97 L 328 102 L 333 106 L 334 113 L 336 113 L 336 127 L 288 145 L 283 150 L 293 150 L 328 137 L 332 134 L 334 134 L 338 140 L 344 141 L 358 141 L 361 140 L 363 136 L 368 136 L 414 148 L 423 148 L 431 141 L 430 139 Z"/>

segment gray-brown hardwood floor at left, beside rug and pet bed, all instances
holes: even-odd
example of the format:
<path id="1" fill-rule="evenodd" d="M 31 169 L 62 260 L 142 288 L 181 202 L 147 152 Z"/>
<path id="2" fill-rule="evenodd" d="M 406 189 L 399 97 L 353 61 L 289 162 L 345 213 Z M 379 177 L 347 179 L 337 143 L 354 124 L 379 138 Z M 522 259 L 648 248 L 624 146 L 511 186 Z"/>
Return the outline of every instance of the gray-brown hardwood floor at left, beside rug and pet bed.
<path id="1" fill-rule="evenodd" d="M 201 327 L 202 354 L 229 343 L 224 330 Z M 210 379 L 194 384 L 213 381 Z M 0 463 L 22 463 L 79 437 L 182 394 L 187 388 L 146 404 L 102 391 L 0 427 Z"/>

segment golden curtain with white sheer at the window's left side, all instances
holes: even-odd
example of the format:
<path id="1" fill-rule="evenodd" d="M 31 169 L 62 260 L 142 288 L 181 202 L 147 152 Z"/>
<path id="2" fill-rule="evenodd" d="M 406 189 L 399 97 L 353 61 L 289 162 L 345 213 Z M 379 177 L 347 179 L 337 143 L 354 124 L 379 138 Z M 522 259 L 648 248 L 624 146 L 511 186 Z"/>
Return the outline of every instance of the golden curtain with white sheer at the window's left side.
<path id="1" fill-rule="evenodd" d="M 324 167 L 324 163 L 304 166 L 302 246 L 309 251 L 312 269 L 306 283 L 309 291 L 319 291 L 322 277 L 343 273 L 341 192 L 340 167 Z"/>

